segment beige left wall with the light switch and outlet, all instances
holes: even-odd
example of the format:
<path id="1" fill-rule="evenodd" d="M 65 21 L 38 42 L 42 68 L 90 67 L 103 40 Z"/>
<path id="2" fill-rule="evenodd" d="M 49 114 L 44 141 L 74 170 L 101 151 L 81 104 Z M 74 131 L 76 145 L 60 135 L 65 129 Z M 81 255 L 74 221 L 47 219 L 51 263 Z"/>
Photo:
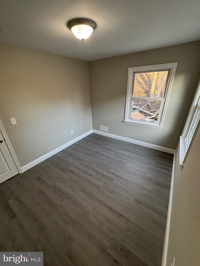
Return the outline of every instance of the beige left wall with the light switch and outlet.
<path id="1" fill-rule="evenodd" d="M 21 166 L 92 129 L 88 62 L 3 43 L 0 62 L 0 119 Z"/>

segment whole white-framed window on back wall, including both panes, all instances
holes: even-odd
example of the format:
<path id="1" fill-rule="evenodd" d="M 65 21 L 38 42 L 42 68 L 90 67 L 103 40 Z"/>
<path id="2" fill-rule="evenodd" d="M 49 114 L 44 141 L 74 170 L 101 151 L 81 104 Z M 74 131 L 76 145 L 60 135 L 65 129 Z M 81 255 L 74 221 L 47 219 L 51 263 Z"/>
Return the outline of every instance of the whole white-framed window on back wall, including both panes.
<path id="1" fill-rule="evenodd" d="M 177 63 L 128 69 L 124 123 L 162 128 Z"/>

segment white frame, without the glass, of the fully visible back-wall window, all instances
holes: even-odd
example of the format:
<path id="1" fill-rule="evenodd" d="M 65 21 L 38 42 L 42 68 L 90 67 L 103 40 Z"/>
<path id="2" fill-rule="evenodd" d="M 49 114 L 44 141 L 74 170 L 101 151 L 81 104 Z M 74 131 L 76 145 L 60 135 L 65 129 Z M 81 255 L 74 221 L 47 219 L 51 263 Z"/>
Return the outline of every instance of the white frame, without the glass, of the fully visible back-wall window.
<path id="1" fill-rule="evenodd" d="M 134 124 L 134 125 L 140 125 L 144 127 L 150 127 L 150 128 L 163 128 L 164 118 L 167 112 L 167 106 L 169 102 L 170 93 L 172 90 L 173 80 L 176 72 L 177 62 L 175 63 L 167 63 L 167 64 L 159 64 L 159 65 L 145 65 L 145 66 L 139 66 L 139 67 L 129 67 L 128 68 L 128 82 L 127 82 L 127 95 L 126 95 L 126 108 L 125 108 L 125 117 L 124 117 L 124 123 L 128 124 Z M 143 120 L 136 120 L 131 119 L 131 107 L 132 107 L 132 97 L 133 95 L 133 78 L 135 77 L 136 73 L 140 72 L 153 72 L 153 71 L 159 71 L 159 70 L 168 70 L 168 80 L 166 84 L 166 88 L 164 91 L 163 98 L 155 98 L 155 100 L 162 100 L 161 102 L 161 108 L 158 116 L 158 122 L 146 122 Z M 144 100 L 149 99 L 148 97 L 142 97 Z"/>

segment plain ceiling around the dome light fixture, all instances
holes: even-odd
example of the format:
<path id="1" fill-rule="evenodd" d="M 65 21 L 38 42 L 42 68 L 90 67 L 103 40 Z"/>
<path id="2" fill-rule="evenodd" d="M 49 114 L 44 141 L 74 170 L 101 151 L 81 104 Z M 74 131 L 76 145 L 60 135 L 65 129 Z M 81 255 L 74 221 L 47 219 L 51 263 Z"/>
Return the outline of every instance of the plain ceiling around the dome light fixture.
<path id="1" fill-rule="evenodd" d="M 97 23 L 78 40 L 72 18 Z M 199 0 L 0 0 L 0 41 L 87 61 L 200 39 Z"/>

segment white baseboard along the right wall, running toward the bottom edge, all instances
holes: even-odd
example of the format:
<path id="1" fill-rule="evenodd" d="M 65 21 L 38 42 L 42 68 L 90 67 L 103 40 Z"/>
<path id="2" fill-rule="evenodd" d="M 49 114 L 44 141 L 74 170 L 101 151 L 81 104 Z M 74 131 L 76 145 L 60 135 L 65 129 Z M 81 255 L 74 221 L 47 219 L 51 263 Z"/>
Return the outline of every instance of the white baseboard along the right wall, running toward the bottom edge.
<path id="1" fill-rule="evenodd" d="M 167 215 L 167 223 L 166 223 L 166 229 L 165 229 L 165 240 L 164 240 L 164 247 L 163 247 L 162 266 L 167 266 L 169 228 L 170 228 L 170 220 L 171 220 L 171 212 L 172 212 L 172 196 L 173 196 L 173 184 L 174 184 L 175 156 L 176 156 L 176 151 L 174 153 L 174 158 L 173 158 L 172 178 L 171 178 L 171 186 L 170 186 L 170 193 L 169 193 L 169 205 L 168 205 L 168 215 Z"/>

